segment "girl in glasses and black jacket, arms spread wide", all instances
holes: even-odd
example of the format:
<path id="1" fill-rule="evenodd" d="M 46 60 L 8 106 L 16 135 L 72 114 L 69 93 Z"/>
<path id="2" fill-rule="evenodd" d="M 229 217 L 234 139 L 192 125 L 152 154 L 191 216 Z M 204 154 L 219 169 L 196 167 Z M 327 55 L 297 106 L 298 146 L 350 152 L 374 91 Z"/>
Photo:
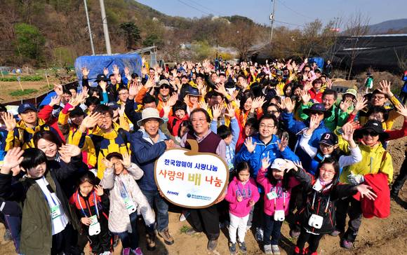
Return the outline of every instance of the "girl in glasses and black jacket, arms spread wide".
<path id="1" fill-rule="evenodd" d="M 339 184 L 339 163 L 334 158 L 325 158 L 316 170 L 315 177 L 307 174 L 302 169 L 301 163 L 293 163 L 286 160 L 286 169 L 295 171 L 295 178 L 303 186 L 303 207 L 297 212 L 301 223 L 301 233 L 298 237 L 295 255 L 316 255 L 319 241 L 323 235 L 331 233 L 335 228 L 335 201 L 354 195 L 357 192 L 361 196 L 375 200 L 377 195 L 371 191 L 371 187 L 365 184 L 349 185 Z M 304 249 L 305 243 L 309 247 Z"/>

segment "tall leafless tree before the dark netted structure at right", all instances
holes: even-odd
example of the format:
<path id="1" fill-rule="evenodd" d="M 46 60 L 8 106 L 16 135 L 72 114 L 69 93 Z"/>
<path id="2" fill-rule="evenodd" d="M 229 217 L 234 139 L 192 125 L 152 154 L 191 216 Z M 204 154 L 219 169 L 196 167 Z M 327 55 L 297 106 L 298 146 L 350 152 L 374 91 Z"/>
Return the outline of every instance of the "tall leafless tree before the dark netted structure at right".
<path id="1" fill-rule="evenodd" d="M 349 18 L 346 24 L 345 36 L 349 37 L 350 46 L 350 48 L 346 49 L 350 59 L 348 79 L 352 74 L 354 60 L 356 60 L 356 57 L 358 57 L 363 48 L 368 47 L 368 41 L 361 40 L 361 36 L 368 34 L 369 22 L 370 18 L 367 15 L 365 16 L 360 12 L 356 12 Z"/>

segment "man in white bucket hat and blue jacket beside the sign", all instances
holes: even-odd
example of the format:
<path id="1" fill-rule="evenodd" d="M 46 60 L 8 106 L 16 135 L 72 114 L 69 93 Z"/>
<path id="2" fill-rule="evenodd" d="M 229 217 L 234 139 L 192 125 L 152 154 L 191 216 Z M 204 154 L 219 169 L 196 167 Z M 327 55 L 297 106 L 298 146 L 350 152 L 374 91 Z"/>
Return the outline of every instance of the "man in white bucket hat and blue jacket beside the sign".
<path id="1" fill-rule="evenodd" d="M 147 108 L 142 111 L 142 119 L 138 120 L 140 128 L 131 136 L 131 149 L 133 151 L 132 162 L 136 163 L 144 172 L 138 181 L 138 186 L 147 198 L 149 205 L 156 206 L 157 230 L 164 242 L 168 245 L 174 243 L 173 237 L 168 232 L 168 204 L 159 194 L 154 181 L 154 163 L 166 149 L 175 146 L 172 140 L 168 140 L 159 126 L 164 120 L 160 118 L 159 111 Z M 148 234 L 147 234 L 148 235 Z M 154 249 L 154 236 L 147 237 L 147 249 Z"/>

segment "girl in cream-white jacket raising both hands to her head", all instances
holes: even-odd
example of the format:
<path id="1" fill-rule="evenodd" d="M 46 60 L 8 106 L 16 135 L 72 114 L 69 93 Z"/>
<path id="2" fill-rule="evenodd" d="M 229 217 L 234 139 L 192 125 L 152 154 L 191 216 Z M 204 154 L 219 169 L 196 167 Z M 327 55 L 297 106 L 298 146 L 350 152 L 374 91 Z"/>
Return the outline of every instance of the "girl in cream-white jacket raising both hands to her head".
<path id="1" fill-rule="evenodd" d="M 140 255 L 142 250 L 138 246 L 138 214 L 142 214 L 150 236 L 154 236 L 155 224 L 154 211 L 135 182 L 144 173 L 138 165 L 131 163 L 128 154 L 109 153 L 102 162 L 106 170 L 100 185 L 110 191 L 109 230 L 114 235 L 119 235 L 124 255 Z"/>

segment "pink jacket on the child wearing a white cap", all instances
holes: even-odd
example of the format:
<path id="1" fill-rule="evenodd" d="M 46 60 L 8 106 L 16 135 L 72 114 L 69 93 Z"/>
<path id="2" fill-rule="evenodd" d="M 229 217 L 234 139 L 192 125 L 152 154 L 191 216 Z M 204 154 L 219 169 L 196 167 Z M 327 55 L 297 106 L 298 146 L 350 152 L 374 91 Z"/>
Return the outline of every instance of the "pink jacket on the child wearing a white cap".
<path id="1" fill-rule="evenodd" d="M 276 186 L 270 183 L 269 179 L 265 176 L 267 170 L 260 169 L 258 172 L 258 183 L 265 188 L 265 214 L 272 216 L 276 210 L 284 210 L 286 216 L 288 214 L 288 203 L 290 202 L 291 197 L 291 188 L 298 185 L 298 181 L 290 178 L 288 184 L 288 190 L 283 192 L 283 182 L 277 181 Z M 277 198 L 269 200 L 267 198 L 267 193 L 274 191 L 277 195 Z"/>

